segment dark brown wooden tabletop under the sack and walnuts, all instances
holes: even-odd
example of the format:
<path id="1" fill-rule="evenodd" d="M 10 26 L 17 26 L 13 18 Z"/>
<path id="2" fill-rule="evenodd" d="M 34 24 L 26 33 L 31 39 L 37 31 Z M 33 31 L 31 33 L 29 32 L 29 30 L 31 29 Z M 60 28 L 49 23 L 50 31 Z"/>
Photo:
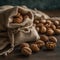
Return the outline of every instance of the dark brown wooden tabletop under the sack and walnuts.
<path id="1" fill-rule="evenodd" d="M 44 11 L 50 16 L 60 16 L 59 10 Z M 33 53 L 29 57 L 22 56 L 19 50 L 15 49 L 7 57 L 0 56 L 0 60 L 60 60 L 60 35 L 56 36 L 58 39 L 57 47 L 54 51 L 41 50 L 38 53 Z"/>

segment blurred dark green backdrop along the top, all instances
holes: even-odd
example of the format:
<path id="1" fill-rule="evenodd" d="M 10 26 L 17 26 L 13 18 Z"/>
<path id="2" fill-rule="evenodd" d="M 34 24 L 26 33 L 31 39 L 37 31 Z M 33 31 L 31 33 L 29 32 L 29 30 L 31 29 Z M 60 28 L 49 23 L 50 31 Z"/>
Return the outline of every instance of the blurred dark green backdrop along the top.
<path id="1" fill-rule="evenodd" d="M 60 9 L 60 0 L 0 0 L 1 5 L 26 5 L 40 10 Z"/>

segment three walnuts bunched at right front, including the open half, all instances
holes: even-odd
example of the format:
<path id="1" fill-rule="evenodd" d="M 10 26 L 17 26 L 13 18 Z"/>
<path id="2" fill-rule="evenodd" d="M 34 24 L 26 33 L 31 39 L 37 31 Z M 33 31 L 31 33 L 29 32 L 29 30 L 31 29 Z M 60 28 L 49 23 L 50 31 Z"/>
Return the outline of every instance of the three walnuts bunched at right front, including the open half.
<path id="1" fill-rule="evenodd" d="M 57 38 L 54 36 L 46 36 L 46 35 L 42 35 L 40 40 L 45 42 L 45 47 L 47 49 L 53 50 L 56 47 L 57 44 Z"/>

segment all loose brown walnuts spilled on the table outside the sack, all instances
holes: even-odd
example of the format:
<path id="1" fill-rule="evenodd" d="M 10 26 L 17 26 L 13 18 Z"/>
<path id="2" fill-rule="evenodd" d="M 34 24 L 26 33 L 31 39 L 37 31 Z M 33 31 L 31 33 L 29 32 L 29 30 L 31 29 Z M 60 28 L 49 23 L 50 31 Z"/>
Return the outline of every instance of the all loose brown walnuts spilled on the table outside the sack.
<path id="1" fill-rule="evenodd" d="M 54 35 L 60 34 L 59 20 L 45 19 L 42 16 L 34 20 L 34 26 L 40 35 L 40 39 L 31 44 L 22 43 L 20 45 L 21 53 L 25 56 L 31 55 L 32 52 L 39 52 L 42 48 L 54 50 L 57 46 L 57 38 Z"/>

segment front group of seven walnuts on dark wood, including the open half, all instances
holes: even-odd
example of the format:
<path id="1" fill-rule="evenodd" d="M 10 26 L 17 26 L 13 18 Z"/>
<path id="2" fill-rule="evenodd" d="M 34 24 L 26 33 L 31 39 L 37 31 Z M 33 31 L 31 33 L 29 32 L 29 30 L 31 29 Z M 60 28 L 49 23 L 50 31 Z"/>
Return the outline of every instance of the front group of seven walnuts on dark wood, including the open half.
<path id="1" fill-rule="evenodd" d="M 21 53 L 25 56 L 31 55 L 33 52 L 39 52 L 44 47 L 49 50 L 54 50 L 57 46 L 57 38 L 54 36 L 41 35 L 40 40 L 32 43 L 20 44 Z"/>

